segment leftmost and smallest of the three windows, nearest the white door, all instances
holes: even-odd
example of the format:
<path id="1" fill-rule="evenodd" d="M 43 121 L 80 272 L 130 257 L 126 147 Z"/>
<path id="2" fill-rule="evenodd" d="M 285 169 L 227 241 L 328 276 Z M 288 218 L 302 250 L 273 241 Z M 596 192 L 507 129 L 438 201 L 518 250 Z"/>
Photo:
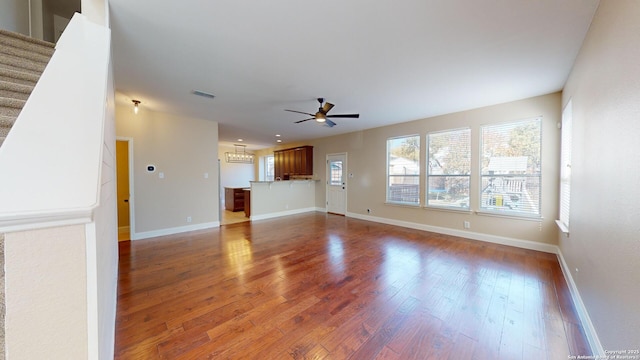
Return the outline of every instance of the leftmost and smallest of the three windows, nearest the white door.
<path id="1" fill-rule="evenodd" d="M 387 140 L 387 202 L 420 203 L 420 135 Z"/>

